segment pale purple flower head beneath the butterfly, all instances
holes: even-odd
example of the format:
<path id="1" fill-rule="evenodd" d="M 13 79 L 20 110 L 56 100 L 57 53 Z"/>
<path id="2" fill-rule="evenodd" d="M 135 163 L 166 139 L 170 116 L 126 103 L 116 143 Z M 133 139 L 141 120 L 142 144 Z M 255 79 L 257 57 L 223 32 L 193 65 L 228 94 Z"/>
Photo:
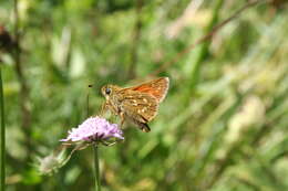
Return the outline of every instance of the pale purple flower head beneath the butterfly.
<path id="1" fill-rule="evenodd" d="M 116 124 L 110 124 L 100 117 L 90 117 L 78 128 L 69 130 L 69 136 L 60 141 L 96 141 L 110 138 L 124 139 L 123 132 Z"/>

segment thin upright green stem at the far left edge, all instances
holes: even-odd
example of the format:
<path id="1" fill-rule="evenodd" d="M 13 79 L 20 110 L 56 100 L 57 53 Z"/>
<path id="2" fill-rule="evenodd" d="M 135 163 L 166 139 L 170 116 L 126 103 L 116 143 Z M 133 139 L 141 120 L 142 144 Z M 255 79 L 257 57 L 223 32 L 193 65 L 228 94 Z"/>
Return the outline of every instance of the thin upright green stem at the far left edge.
<path id="1" fill-rule="evenodd" d="M 1 179 L 1 185 L 0 191 L 6 190 L 6 127 L 4 127 L 4 98 L 3 98 L 3 85 L 2 85 L 2 71 L 0 66 L 0 112 L 1 112 L 1 141 L 0 141 L 0 179 Z"/>

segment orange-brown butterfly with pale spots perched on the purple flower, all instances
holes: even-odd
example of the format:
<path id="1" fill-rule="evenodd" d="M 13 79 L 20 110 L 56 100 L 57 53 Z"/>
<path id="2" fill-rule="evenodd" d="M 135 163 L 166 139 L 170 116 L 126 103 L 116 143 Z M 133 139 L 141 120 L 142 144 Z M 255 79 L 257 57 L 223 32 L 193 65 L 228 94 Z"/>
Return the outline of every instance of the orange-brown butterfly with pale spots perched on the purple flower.
<path id="1" fill-rule="evenodd" d="M 144 132 L 151 131 L 150 123 L 158 113 L 160 103 L 166 97 L 168 77 L 160 77 L 133 87 L 104 85 L 101 93 L 105 97 L 103 110 L 110 109 L 121 117 L 121 127 L 127 120 Z"/>

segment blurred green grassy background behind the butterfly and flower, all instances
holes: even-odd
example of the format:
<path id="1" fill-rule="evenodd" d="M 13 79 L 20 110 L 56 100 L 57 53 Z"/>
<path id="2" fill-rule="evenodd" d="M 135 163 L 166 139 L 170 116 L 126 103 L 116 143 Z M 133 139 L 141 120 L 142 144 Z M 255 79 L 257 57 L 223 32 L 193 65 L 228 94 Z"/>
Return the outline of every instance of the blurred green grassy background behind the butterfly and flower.
<path id="1" fill-rule="evenodd" d="M 124 142 L 100 149 L 104 191 L 288 190 L 285 0 L 245 10 L 158 73 L 248 1 L 18 0 L 18 12 L 14 2 L 0 1 L 0 24 L 20 42 L 19 57 L 0 52 L 8 191 L 93 190 L 91 148 L 50 177 L 35 157 L 86 118 L 88 93 L 95 115 L 102 85 L 156 76 L 171 88 L 152 131 L 126 125 Z"/>

